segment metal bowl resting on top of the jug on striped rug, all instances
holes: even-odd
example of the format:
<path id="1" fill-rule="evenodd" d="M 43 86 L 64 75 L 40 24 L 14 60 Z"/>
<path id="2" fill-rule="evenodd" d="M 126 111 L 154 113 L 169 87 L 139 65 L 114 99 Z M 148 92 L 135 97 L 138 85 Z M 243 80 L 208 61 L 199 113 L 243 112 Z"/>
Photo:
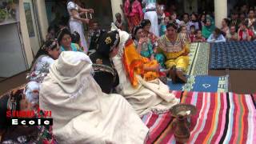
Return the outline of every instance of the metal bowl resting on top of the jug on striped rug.
<path id="1" fill-rule="evenodd" d="M 178 117 L 178 115 L 190 117 L 197 113 L 197 108 L 190 104 L 178 104 L 170 108 L 170 112 L 174 117 Z"/>

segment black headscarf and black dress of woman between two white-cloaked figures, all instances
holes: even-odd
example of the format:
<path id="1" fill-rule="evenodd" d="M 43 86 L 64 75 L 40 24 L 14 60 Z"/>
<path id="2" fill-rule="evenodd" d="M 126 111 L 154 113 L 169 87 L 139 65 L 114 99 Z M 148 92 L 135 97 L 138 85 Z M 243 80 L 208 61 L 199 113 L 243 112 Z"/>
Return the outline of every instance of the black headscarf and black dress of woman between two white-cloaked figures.
<path id="1" fill-rule="evenodd" d="M 119 84 L 118 73 L 110 58 L 110 53 L 119 42 L 117 31 L 103 33 L 99 36 L 96 52 L 90 54 L 93 62 L 94 79 L 102 88 L 102 92 L 110 94 Z"/>

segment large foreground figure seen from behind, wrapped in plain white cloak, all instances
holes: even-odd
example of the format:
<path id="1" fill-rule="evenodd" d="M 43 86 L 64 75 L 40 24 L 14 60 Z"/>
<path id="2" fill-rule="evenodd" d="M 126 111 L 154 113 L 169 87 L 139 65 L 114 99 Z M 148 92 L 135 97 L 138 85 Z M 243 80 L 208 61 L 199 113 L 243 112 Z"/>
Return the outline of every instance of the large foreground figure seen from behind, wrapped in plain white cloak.
<path id="1" fill-rule="evenodd" d="M 148 128 L 118 94 L 102 93 L 92 62 L 64 51 L 41 85 L 40 108 L 51 110 L 59 143 L 143 143 Z"/>

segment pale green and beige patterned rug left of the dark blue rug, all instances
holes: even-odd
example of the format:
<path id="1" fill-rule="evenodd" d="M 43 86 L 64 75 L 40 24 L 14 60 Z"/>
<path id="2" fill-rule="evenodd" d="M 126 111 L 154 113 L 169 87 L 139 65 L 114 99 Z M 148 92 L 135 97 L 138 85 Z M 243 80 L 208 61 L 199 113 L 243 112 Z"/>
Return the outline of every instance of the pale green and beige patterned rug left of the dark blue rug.
<path id="1" fill-rule="evenodd" d="M 207 75 L 210 44 L 206 42 L 190 45 L 190 65 L 187 75 Z"/>

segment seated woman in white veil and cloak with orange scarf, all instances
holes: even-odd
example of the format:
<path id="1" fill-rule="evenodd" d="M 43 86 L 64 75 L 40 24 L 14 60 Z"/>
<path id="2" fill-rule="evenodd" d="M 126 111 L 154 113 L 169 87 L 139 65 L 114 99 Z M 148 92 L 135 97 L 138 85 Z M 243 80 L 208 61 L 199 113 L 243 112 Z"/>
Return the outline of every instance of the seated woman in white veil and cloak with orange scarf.
<path id="1" fill-rule="evenodd" d="M 117 28 L 112 24 L 111 30 L 117 30 Z M 127 67 L 132 68 L 133 66 L 128 66 L 129 63 L 126 63 L 126 53 L 134 52 L 135 47 L 130 42 L 130 34 L 122 30 L 118 30 L 118 32 L 120 36 L 119 50 L 118 55 L 113 58 L 115 69 L 119 75 L 118 93 L 130 102 L 139 115 L 146 114 L 150 110 L 168 110 L 178 104 L 179 99 L 175 98 L 175 95 L 170 93 L 169 87 L 158 78 L 147 82 L 140 75 L 134 74 L 133 70 L 127 72 Z"/>

